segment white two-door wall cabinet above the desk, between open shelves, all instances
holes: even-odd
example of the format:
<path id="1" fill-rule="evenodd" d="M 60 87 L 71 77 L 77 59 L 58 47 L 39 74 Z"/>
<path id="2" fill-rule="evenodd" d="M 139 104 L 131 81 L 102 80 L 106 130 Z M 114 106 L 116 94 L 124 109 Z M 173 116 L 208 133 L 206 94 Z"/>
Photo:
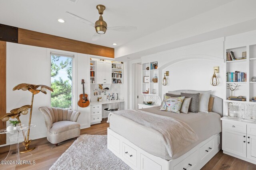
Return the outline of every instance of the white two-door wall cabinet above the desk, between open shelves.
<path id="1" fill-rule="evenodd" d="M 111 84 L 111 63 L 96 61 L 96 83 Z"/>

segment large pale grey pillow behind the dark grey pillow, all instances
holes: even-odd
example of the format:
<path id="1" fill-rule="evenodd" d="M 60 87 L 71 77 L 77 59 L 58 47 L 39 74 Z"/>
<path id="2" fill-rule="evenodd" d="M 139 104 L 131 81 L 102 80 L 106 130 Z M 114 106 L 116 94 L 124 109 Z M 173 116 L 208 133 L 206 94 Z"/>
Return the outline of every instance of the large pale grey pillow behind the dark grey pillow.
<path id="1" fill-rule="evenodd" d="M 198 102 L 198 111 L 209 113 L 208 104 L 209 104 L 209 98 L 210 98 L 211 92 L 212 90 L 208 90 L 208 91 L 187 90 L 186 93 L 200 93 L 199 102 Z"/>

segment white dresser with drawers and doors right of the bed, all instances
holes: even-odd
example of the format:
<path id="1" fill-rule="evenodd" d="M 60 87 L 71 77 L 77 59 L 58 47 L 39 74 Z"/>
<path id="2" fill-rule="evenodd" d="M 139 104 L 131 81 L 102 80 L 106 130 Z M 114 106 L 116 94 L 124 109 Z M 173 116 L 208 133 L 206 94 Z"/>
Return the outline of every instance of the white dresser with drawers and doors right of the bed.
<path id="1" fill-rule="evenodd" d="M 223 153 L 256 164 L 256 121 L 222 117 Z"/>

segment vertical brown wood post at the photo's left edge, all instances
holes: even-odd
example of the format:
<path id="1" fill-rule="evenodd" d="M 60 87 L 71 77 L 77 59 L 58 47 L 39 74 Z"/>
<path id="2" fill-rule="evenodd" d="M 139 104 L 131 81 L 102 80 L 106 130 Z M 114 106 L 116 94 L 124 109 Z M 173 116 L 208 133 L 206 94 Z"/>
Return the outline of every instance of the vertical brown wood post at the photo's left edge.
<path id="1" fill-rule="evenodd" d="M 0 116 L 6 114 L 6 42 L 0 41 Z M 0 120 L 0 129 L 6 122 Z M 0 145 L 6 144 L 6 134 L 0 135 Z"/>

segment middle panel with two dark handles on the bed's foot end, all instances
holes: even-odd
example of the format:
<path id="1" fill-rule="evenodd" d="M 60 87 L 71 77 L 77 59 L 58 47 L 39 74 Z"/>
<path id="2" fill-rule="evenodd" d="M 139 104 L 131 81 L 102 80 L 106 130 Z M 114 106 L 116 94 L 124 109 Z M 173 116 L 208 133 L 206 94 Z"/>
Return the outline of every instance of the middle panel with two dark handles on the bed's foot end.
<path id="1" fill-rule="evenodd" d="M 137 166 L 137 151 L 129 145 L 126 145 L 126 143 L 123 143 L 122 155 L 131 164 Z"/>

